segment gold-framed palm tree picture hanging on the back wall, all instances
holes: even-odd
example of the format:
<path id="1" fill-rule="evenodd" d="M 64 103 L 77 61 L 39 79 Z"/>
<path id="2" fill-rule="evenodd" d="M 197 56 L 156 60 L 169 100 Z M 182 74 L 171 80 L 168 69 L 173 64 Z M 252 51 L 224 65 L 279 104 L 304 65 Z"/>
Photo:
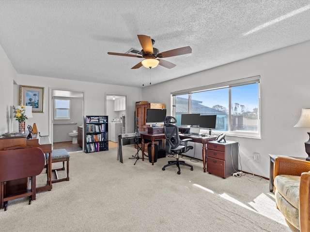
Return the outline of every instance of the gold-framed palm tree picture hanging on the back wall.
<path id="1" fill-rule="evenodd" d="M 20 86 L 19 104 L 32 106 L 32 113 L 44 113 L 44 87 Z"/>

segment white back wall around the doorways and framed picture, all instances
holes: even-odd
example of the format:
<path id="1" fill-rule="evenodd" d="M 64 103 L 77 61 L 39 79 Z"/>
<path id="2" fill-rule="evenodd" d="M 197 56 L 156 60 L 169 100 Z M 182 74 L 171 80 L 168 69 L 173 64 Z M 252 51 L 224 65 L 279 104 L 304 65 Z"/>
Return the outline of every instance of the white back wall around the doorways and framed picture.
<path id="1" fill-rule="evenodd" d="M 83 81 L 62 80 L 57 78 L 32 76 L 18 74 L 16 78 L 17 85 L 23 86 L 36 86 L 44 87 L 44 113 L 33 113 L 33 118 L 26 121 L 27 125 L 36 123 L 38 131 L 43 135 L 49 135 L 51 137 L 51 131 L 49 129 L 50 123 L 50 97 L 49 88 L 57 89 L 71 89 L 81 91 L 85 93 L 84 102 L 84 115 L 105 115 L 105 92 L 113 92 L 120 95 L 127 95 L 127 110 L 128 110 L 128 132 L 134 132 L 134 111 L 136 102 L 141 101 L 141 89 L 135 87 L 124 87 L 105 85 Z M 18 103 L 19 88 L 14 87 L 14 102 Z M 11 103 L 12 104 L 12 103 Z M 131 123 L 132 122 L 132 123 Z M 14 124 L 15 131 L 18 124 Z"/>

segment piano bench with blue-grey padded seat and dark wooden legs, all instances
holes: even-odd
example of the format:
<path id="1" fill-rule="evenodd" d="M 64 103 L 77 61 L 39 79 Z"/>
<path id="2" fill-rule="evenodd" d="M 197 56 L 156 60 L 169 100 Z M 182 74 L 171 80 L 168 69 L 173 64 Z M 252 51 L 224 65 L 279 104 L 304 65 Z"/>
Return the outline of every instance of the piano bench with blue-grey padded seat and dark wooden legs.
<path id="1" fill-rule="evenodd" d="M 49 165 L 48 164 L 48 158 L 49 158 L 49 154 L 47 153 L 46 154 L 47 165 Z M 52 183 L 57 183 L 57 182 L 69 180 L 69 160 L 70 160 L 70 155 L 66 151 L 66 149 L 54 149 L 54 150 L 52 150 L 52 163 L 62 162 L 62 168 L 52 169 L 52 172 L 55 172 L 55 174 L 56 174 L 56 179 L 52 180 Z M 64 168 L 64 162 L 65 161 L 67 162 L 67 177 L 59 179 L 57 171 L 65 170 L 65 168 Z M 49 179 L 48 172 L 47 172 L 47 179 Z"/>

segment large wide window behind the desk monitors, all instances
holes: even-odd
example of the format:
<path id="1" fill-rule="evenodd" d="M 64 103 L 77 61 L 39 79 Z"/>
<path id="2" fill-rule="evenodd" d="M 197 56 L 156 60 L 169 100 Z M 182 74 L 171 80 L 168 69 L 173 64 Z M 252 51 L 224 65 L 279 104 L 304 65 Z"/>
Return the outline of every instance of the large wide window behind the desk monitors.
<path id="1" fill-rule="evenodd" d="M 215 131 L 260 137 L 259 76 L 179 91 L 172 97 L 178 126 L 182 114 L 217 115 Z"/>

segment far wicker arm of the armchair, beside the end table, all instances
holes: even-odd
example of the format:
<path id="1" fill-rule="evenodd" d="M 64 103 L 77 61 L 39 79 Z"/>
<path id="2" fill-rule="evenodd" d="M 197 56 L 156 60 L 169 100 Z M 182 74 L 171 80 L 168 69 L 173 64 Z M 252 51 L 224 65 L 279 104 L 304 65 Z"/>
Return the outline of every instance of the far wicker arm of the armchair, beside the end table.
<path id="1" fill-rule="evenodd" d="M 297 160 L 291 157 L 278 156 L 275 159 L 274 178 L 277 175 L 297 175 L 310 171 L 310 162 L 306 160 Z"/>

